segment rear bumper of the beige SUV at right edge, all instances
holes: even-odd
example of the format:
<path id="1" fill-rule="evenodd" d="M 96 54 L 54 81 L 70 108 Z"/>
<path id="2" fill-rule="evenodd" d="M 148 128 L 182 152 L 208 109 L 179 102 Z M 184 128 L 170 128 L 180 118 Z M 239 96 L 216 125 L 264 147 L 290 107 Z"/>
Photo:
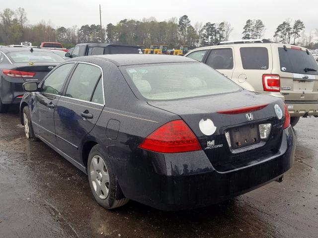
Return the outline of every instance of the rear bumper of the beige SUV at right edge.
<path id="1" fill-rule="evenodd" d="M 291 117 L 318 116 L 318 101 L 285 101 Z"/>

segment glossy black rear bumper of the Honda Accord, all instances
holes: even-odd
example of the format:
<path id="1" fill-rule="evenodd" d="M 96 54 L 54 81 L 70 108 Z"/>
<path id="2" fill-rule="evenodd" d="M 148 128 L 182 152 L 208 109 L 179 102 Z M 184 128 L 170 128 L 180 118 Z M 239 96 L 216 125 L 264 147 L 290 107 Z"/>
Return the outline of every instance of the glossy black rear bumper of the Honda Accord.
<path id="1" fill-rule="evenodd" d="M 125 170 L 125 176 L 130 181 L 122 183 L 119 178 L 119 182 L 126 197 L 160 210 L 204 207 L 281 177 L 293 166 L 295 147 L 296 138 L 290 126 L 283 131 L 277 154 L 242 168 L 220 173 L 213 168 L 203 151 L 188 153 L 194 156 L 191 158 L 186 153 L 184 156 L 148 156 L 147 161 L 139 157 L 146 168 L 141 169 L 137 165 L 139 162 L 136 164 L 135 161 L 136 170 L 132 177 L 127 167 Z"/>

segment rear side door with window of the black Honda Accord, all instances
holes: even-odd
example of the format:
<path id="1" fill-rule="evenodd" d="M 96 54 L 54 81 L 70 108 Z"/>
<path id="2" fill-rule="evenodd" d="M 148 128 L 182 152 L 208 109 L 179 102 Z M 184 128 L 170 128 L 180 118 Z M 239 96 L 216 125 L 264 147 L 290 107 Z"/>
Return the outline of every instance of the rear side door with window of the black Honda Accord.
<path id="1" fill-rule="evenodd" d="M 59 149 L 79 159 L 82 139 L 94 127 L 104 107 L 102 70 L 80 62 L 59 100 L 54 123 Z"/>

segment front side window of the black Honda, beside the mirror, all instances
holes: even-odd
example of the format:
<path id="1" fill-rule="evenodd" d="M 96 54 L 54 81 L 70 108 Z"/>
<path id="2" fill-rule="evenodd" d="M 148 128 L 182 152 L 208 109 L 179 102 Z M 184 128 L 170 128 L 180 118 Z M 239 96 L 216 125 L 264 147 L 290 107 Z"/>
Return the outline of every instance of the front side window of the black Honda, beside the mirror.
<path id="1" fill-rule="evenodd" d="M 43 82 L 41 92 L 61 95 L 64 82 L 73 66 L 74 63 L 66 63 L 54 69 Z"/>

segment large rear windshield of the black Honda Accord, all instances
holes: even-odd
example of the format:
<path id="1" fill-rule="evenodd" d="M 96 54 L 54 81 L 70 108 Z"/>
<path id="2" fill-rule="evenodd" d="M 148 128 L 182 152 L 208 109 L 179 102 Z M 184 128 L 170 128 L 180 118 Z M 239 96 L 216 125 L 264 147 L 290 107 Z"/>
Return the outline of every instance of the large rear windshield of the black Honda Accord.
<path id="1" fill-rule="evenodd" d="M 130 65 L 125 67 L 125 71 L 140 94 L 150 100 L 173 100 L 240 90 L 233 81 L 200 62 Z"/>

